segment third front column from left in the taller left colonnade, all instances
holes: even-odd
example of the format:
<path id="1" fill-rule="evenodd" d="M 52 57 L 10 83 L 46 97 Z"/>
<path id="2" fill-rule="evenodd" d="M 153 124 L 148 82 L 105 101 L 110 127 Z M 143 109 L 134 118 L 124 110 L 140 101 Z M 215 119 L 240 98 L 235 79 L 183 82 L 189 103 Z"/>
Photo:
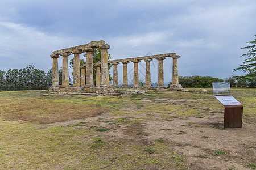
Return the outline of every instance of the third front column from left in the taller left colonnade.
<path id="1" fill-rule="evenodd" d="M 82 51 L 79 50 L 72 53 L 74 54 L 73 87 L 77 87 L 81 85 L 79 55 L 82 53 Z"/>

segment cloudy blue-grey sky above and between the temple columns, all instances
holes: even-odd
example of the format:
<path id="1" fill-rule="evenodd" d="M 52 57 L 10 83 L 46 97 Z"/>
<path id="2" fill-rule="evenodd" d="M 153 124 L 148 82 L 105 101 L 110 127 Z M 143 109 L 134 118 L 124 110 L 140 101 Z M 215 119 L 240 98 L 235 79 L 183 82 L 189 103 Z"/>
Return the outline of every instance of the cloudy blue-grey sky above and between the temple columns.
<path id="1" fill-rule="evenodd" d="M 104 40 L 112 59 L 176 53 L 181 76 L 244 75 L 233 69 L 255 38 L 255 16 L 255 0 L 1 0 L 0 70 L 30 64 L 48 71 L 53 51 Z M 128 69 L 132 79 L 133 63 Z M 152 61 L 152 82 L 157 70 Z M 144 61 L 139 71 L 143 80 Z M 118 74 L 121 81 L 122 64 Z M 164 82 L 171 74 L 166 58 Z"/>

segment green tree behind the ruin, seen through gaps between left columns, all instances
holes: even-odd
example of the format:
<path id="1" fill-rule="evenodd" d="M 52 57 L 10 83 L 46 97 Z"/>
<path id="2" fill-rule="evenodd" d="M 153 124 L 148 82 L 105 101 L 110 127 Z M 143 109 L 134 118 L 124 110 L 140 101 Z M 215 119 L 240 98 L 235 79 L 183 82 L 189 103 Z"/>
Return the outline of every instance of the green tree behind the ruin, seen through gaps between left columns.
<path id="1" fill-rule="evenodd" d="M 93 41 L 92 41 L 93 42 Z M 87 58 L 87 53 L 84 53 L 84 57 Z M 108 53 L 108 59 L 111 59 L 110 54 Z M 100 48 L 94 48 L 94 52 L 93 52 L 93 62 L 101 62 L 101 49 Z M 74 67 L 74 58 L 72 58 L 70 60 L 70 68 L 73 69 Z M 80 67 L 82 67 L 84 64 L 86 64 L 86 61 L 84 59 L 80 59 Z M 109 64 L 109 70 L 112 67 L 112 64 Z M 85 70 L 85 74 L 86 74 L 86 70 Z M 72 72 L 73 75 L 73 72 Z M 109 82 L 111 82 L 113 79 L 110 76 L 110 72 L 109 72 Z M 96 67 L 93 67 L 93 81 L 94 81 L 94 85 L 96 85 Z"/>

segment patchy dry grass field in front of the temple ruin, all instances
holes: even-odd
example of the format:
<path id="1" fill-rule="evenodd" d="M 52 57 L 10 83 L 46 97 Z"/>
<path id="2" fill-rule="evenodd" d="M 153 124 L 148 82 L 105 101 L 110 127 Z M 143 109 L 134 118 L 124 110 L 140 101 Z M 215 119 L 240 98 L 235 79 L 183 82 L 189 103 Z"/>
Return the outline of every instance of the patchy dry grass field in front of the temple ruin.
<path id="1" fill-rule="evenodd" d="M 255 169 L 256 90 L 232 94 L 243 104 L 242 129 L 223 130 L 213 94 L 0 92 L 0 169 Z"/>

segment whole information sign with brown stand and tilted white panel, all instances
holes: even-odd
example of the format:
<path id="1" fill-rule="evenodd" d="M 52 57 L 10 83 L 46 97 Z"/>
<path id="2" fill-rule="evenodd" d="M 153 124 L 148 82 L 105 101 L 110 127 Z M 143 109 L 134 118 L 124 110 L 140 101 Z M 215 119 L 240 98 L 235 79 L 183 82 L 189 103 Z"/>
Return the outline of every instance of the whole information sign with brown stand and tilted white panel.
<path id="1" fill-rule="evenodd" d="M 230 91 L 228 83 L 212 83 L 213 94 L 224 105 L 224 128 L 242 128 L 243 105 L 237 101 Z"/>

